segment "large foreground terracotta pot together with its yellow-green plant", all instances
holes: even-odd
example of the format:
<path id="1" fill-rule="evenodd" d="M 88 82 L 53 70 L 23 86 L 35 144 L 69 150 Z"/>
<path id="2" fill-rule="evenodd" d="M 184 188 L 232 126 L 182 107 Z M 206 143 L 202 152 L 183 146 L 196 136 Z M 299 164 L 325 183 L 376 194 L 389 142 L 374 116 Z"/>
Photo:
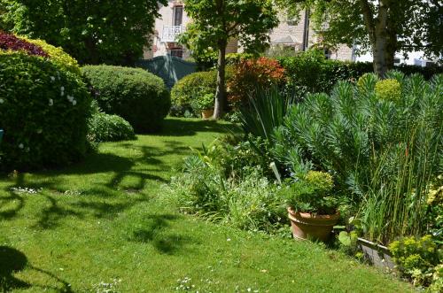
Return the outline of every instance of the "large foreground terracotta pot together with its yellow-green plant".
<path id="1" fill-rule="evenodd" d="M 329 173 L 309 171 L 285 191 L 292 235 L 326 241 L 339 219 L 338 194 Z"/>

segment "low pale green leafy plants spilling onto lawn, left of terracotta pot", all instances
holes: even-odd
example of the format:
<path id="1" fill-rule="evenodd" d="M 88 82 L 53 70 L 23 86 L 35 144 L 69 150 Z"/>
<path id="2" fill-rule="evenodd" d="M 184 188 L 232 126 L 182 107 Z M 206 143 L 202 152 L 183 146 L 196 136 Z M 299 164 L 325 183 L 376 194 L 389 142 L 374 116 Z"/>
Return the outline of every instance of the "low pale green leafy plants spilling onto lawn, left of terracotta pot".
<path id="1" fill-rule="evenodd" d="M 167 194 L 182 212 L 251 231 L 276 232 L 285 214 L 276 185 L 262 177 L 260 169 L 239 180 L 227 180 L 196 155 L 185 160 L 183 173 L 173 177 Z"/>

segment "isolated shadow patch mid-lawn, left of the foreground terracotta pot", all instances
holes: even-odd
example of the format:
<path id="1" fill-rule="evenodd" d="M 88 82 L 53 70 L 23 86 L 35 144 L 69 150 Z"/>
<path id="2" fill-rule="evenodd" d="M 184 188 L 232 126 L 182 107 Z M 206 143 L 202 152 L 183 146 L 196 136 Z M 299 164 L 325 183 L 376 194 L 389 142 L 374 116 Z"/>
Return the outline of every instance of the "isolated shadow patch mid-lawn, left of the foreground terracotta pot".
<path id="1" fill-rule="evenodd" d="M 130 240 L 150 243 L 159 253 L 175 254 L 193 241 L 188 235 L 169 232 L 170 222 L 180 219 L 181 217 L 174 214 L 150 215 L 146 217 L 145 227 L 133 231 Z"/>

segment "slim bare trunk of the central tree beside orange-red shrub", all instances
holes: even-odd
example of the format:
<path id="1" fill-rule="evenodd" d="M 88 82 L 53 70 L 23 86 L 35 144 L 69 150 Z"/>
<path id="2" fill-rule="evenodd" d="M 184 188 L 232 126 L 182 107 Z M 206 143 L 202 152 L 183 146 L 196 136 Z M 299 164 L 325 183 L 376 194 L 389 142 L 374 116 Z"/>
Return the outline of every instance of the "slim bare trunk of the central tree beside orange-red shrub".
<path id="1" fill-rule="evenodd" d="M 225 67 L 226 67 L 227 42 L 219 42 L 219 58 L 217 62 L 217 91 L 215 93 L 214 116 L 215 120 L 221 118 L 226 107 Z"/>

